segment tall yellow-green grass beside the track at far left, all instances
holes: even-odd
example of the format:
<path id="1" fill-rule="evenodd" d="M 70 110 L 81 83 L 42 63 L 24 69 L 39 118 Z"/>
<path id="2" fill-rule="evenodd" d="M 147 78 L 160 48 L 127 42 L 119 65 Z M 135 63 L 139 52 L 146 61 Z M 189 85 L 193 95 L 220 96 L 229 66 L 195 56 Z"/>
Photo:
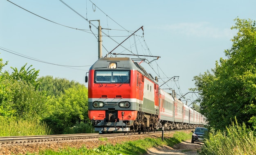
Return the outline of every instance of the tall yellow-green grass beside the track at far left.
<path id="1" fill-rule="evenodd" d="M 45 122 L 37 119 L 14 120 L 0 117 L 0 136 L 49 135 L 50 129 Z"/>

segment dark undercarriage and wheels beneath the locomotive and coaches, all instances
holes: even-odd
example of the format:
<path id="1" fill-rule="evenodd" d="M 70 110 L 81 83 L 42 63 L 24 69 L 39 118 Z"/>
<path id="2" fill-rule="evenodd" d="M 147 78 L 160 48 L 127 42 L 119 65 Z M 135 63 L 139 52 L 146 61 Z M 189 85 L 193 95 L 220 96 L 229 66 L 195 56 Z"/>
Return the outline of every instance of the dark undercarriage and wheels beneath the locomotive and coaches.
<path id="1" fill-rule="evenodd" d="M 200 125 L 187 124 L 181 122 L 171 122 L 159 120 L 157 115 L 146 114 L 138 111 L 136 120 L 119 120 L 116 119 L 115 114 L 108 114 L 105 120 L 92 120 L 94 130 L 100 133 L 112 132 L 155 132 L 164 127 L 165 131 L 179 130 L 179 129 L 194 129 Z"/>

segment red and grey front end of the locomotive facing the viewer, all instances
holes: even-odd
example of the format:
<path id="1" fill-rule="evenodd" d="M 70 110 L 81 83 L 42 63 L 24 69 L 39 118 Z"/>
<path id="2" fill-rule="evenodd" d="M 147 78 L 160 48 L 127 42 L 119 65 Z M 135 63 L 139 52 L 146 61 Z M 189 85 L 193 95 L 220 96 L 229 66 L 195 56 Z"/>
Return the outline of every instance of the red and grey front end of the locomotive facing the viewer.
<path id="1" fill-rule="evenodd" d="M 130 131 L 137 118 L 129 58 L 100 58 L 92 65 L 88 81 L 88 116 L 95 131 Z"/>

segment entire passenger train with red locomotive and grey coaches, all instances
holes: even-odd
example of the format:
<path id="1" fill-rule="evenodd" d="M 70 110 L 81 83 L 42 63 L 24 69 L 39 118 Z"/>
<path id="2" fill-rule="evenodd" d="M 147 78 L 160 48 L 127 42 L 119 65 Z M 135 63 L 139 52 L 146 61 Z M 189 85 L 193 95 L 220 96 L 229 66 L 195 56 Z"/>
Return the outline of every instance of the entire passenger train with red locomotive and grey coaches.
<path id="1" fill-rule="evenodd" d="M 193 129 L 206 123 L 202 114 L 177 99 L 174 91 L 160 89 L 157 77 L 129 57 L 99 58 L 85 82 L 88 116 L 99 133 Z"/>

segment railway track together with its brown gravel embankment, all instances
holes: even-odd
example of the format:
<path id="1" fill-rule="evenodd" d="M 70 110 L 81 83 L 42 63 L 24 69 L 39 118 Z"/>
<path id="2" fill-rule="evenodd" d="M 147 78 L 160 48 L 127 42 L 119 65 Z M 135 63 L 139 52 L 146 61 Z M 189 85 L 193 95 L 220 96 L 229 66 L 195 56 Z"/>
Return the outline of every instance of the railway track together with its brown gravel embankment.
<path id="1" fill-rule="evenodd" d="M 173 130 L 165 131 L 164 133 L 174 133 Z M 185 132 L 191 132 L 191 129 Z M 25 154 L 27 152 L 34 153 L 40 150 L 51 149 L 59 150 L 65 147 L 86 148 L 92 149 L 99 145 L 117 144 L 120 142 L 133 141 L 144 139 L 147 137 L 161 137 L 162 131 L 151 132 L 146 134 L 139 133 L 112 133 L 112 134 L 68 134 L 68 135 L 43 135 L 43 136 L 15 136 L 15 137 L 0 137 L 0 155 L 8 154 Z M 166 137 L 166 136 L 165 136 Z M 102 139 L 101 139 L 102 138 Z"/>

